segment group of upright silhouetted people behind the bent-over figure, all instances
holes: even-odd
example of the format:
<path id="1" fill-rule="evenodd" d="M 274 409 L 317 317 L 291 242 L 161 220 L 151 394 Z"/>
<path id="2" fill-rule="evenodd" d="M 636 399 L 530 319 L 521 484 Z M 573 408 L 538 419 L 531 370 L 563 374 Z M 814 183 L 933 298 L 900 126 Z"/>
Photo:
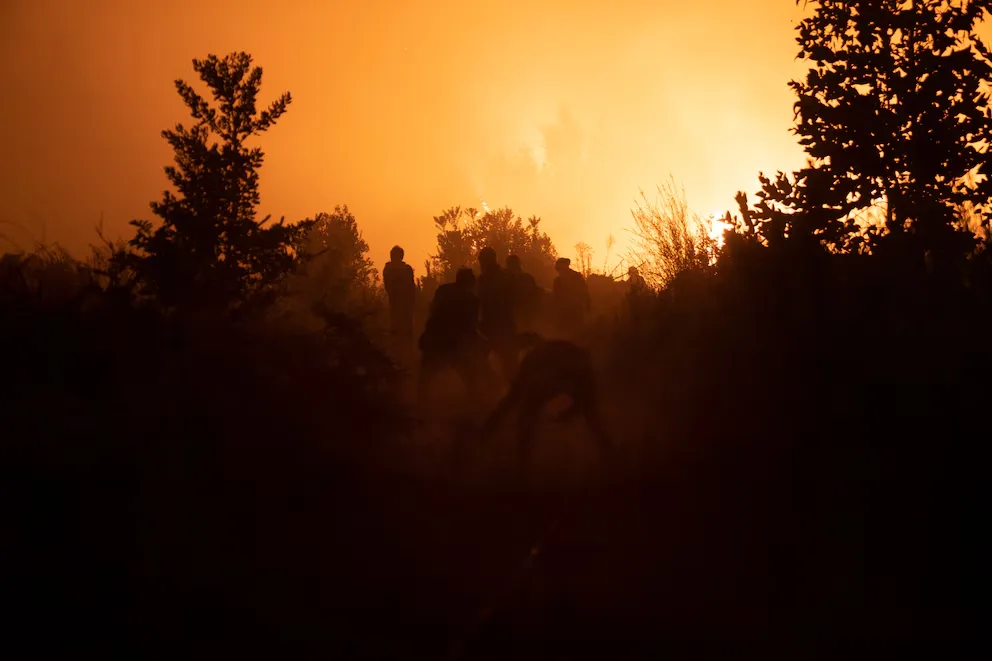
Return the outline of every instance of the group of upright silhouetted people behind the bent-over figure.
<path id="1" fill-rule="evenodd" d="M 383 281 L 389 298 L 390 331 L 412 339 L 417 288 L 413 269 L 403 256 L 399 246 L 392 249 Z M 534 330 L 538 323 L 547 292 L 523 270 L 520 258 L 509 255 L 504 267 L 496 251 L 486 247 L 478 260 L 478 277 L 471 268 L 459 269 L 454 282 L 438 287 L 431 301 L 418 341 L 420 398 L 446 369 L 455 370 L 472 394 L 493 379 L 509 381 L 518 364 L 518 334 Z M 592 307 L 589 289 L 568 258 L 558 259 L 555 269 L 558 275 L 550 294 L 554 322 L 559 334 L 574 336 Z M 490 366 L 490 356 L 495 358 L 498 374 Z"/>

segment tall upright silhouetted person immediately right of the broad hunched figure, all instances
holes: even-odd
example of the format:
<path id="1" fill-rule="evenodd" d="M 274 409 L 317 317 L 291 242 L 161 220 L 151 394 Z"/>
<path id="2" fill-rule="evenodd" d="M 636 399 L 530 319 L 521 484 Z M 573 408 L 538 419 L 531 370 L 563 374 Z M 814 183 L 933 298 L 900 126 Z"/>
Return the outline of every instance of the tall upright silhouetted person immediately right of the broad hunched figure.
<path id="1" fill-rule="evenodd" d="M 479 251 L 479 330 L 496 354 L 500 372 L 509 381 L 517 368 L 517 323 L 514 319 L 513 283 L 496 261 L 496 251 Z"/>

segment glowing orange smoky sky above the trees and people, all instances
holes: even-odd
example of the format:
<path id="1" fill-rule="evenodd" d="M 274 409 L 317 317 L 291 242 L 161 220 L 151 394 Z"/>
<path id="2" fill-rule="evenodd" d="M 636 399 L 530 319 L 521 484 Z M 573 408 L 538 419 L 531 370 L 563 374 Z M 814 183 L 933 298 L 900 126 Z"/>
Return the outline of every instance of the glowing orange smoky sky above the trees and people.
<path id="1" fill-rule="evenodd" d="M 167 185 L 160 131 L 188 118 L 172 81 L 246 50 L 262 100 L 293 94 L 261 141 L 263 213 L 348 204 L 377 263 L 398 242 L 422 273 L 431 217 L 481 197 L 598 266 L 638 188 L 672 174 L 708 213 L 801 164 L 799 17 L 793 0 L 4 0 L 0 250 L 30 233 L 82 254 L 101 214 L 130 236 Z"/>

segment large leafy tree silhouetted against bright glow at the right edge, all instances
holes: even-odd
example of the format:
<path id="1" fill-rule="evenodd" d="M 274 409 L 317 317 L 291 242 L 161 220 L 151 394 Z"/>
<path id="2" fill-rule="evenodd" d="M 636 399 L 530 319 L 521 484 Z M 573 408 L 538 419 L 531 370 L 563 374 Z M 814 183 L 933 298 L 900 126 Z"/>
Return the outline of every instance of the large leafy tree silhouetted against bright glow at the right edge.
<path id="1" fill-rule="evenodd" d="M 953 231 L 961 205 L 992 202 L 992 183 L 974 183 L 992 137 L 992 65 L 975 26 L 992 0 L 810 4 L 796 40 L 812 67 L 789 83 L 810 159 L 791 177 L 762 177 L 757 231 L 770 243 L 815 234 L 850 247 L 859 230 L 849 214 L 884 201 L 889 232 L 951 248 L 964 236 Z"/>

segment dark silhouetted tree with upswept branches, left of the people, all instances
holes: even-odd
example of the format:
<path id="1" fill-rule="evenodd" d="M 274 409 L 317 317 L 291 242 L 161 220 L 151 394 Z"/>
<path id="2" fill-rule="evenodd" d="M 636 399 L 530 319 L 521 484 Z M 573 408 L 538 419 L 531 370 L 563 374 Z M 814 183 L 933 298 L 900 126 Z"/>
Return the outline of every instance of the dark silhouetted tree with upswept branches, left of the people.
<path id="1" fill-rule="evenodd" d="M 266 227 L 269 217 L 255 217 L 263 154 L 246 143 L 286 112 L 289 93 L 258 112 L 262 69 L 247 53 L 193 60 L 193 69 L 215 105 L 176 81 L 196 123 L 162 132 L 175 151 L 175 165 L 165 168 L 175 192 L 151 205 L 160 225 L 132 221 L 134 252 L 125 259 L 142 290 L 167 306 L 231 306 L 270 291 L 292 270 L 293 247 L 312 223 Z"/>

